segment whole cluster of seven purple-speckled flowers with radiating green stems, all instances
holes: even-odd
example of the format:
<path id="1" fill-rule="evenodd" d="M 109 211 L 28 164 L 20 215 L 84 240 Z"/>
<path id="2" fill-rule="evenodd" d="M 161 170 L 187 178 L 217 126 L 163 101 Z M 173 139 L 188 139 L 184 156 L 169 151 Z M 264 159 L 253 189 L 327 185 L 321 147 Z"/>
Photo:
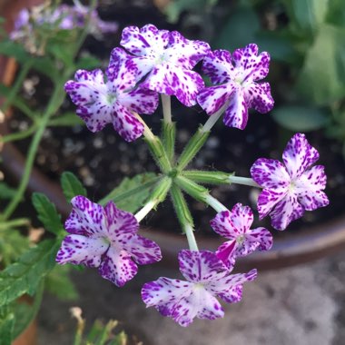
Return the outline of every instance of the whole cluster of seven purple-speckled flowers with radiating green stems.
<path id="1" fill-rule="evenodd" d="M 143 301 L 182 326 L 189 325 L 195 317 L 220 318 L 224 311 L 217 298 L 228 303 L 240 301 L 242 284 L 257 274 L 256 270 L 232 274 L 236 260 L 257 249 L 269 251 L 272 236 L 265 228 L 251 229 L 253 212 L 249 206 L 237 203 L 228 210 L 197 183 L 202 181 L 202 174 L 194 171 L 199 178 L 189 180 L 192 173 L 185 173 L 184 167 L 222 113 L 225 125 L 243 130 L 250 108 L 260 113 L 271 111 L 274 102 L 270 84 L 260 83 L 269 73 L 270 55 L 258 54 L 256 44 L 232 54 L 225 50 L 212 52 L 205 42 L 188 40 L 176 31 L 158 30 L 154 25 L 124 28 L 121 45 L 123 48 L 113 49 L 105 71 L 79 70 L 74 80 L 65 84 L 65 91 L 90 131 L 101 131 L 111 123 L 127 142 L 144 135 L 161 168 L 162 179 L 136 214 L 119 210 L 113 202 L 103 207 L 83 196 L 74 197 L 73 211 L 65 222 L 69 235 L 64 238 L 56 261 L 97 267 L 105 279 L 123 286 L 136 274 L 138 264 L 161 260 L 158 244 L 138 234 L 139 222 L 171 192 L 190 247 L 178 254 L 184 280 L 161 277 L 144 284 Z M 212 86 L 205 87 L 202 76 L 192 70 L 200 62 Z M 162 144 L 140 116 L 156 111 L 159 94 L 165 109 L 163 123 L 168 127 L 173 126 L 171 113 L 166 111 L 168 96 L 176 96 L 186 106 L 200 104 L 210 116 L 177 161 L 169 154 L 171 146 Z M 329 203 L 322 192 L 326 185 L 323 166 L 312 166 L 318 158 L 319 153 L 305 135 L 297 133 L 283 153 L 284 164 L 260 158 L 251 166 L 252 179 L 229 173 L 227 182 L 245 181 L 244 184 L 261 188 L 260 219 L 271 215 L 272 227 L 285 230 L 305 211 Z M 212 181 L 212 173 L 208 176 L 208 181 Z M 179 212 L 185 208 L 181 191 L 191 193 L 216 211 L 211 226 L 224 238 L 217 251 L 198 250 L 188 209 Z"/>

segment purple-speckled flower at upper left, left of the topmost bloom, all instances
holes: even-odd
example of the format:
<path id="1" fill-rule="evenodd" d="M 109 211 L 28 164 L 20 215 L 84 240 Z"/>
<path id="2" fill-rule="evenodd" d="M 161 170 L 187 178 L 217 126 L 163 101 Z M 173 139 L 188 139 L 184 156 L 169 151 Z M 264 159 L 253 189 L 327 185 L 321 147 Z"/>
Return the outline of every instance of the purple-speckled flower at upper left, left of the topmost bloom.
<path id="1" fill-rule="evenodd" d="M 79 70 L 74 76 L 76 81 L 68 81 L 64 89 L 91 132 L 113 123 L 115 131 L 132 142 L 143 134 L 143 123 L 133 112 L 153 113 L 158 106 L 158 95 L 142 87 L 134 88 L 136 69 L 121 48 L 113 49 L 105 74 L 106 81 L 99 69 Z"/>

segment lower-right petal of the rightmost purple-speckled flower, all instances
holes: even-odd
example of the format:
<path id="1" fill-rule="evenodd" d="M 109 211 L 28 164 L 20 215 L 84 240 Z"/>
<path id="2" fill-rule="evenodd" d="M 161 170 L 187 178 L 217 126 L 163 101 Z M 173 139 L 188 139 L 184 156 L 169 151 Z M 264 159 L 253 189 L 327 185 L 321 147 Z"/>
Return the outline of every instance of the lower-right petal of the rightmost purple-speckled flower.
<path id="1" fill-rule="evenodd" d="M 305 210 L 313 211 L 330 203 L 327 195 L 322 192 L 326 187 L 326 181 L 324 167 L 315 165 L 295 182 L 294 192 Z"/>

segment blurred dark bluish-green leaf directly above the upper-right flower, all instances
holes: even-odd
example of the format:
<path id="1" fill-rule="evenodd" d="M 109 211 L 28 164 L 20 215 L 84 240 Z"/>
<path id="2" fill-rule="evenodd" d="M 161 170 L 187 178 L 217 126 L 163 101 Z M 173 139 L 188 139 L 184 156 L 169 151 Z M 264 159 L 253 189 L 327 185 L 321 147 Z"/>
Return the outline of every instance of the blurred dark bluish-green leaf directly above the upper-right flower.
<path id="1" fill-rule="evenodd" d="M 255 42 L 260 28 L 258 15 L 249 6 L 239 6 L 222 26 L 214 45 L 216 48 L 234 49 Z"/>

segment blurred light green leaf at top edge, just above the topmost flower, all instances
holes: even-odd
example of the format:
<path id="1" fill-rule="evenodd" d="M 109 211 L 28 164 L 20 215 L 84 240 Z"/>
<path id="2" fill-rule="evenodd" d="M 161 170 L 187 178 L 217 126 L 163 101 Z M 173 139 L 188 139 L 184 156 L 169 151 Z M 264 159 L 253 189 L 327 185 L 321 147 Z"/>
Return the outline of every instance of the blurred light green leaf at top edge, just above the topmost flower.
<path id="1" fill-rule="evenodd" d="M 167 15 L 168 22 L 176 23 L 184 11 L 202 11 L 205 12 L 207 7 L 216 5 L 218 0 L 174 0 L 163 10 Z"/>

